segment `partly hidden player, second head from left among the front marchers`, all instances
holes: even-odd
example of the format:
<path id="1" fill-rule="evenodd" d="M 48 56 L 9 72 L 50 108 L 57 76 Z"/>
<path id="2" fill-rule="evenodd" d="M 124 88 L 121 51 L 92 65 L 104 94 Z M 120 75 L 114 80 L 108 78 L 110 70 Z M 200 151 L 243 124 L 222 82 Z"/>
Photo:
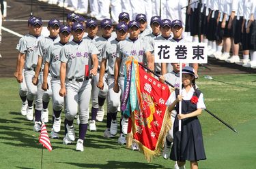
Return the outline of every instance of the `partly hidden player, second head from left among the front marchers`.
<path id="1" fill-rule="evenodd" d="M 48 48 L 53 43 L 59 41 L 59 26 L 61 23 L 57 19 L 51 19 L 48 22 L 48 31 L 50 35 L 48 37 L 44 37 L 40 39 L 38 43 L 38 64 L 35 69 L 35 75 L 33 76 L 32 83 L 36 86 L 39 86 L 38 89 L 38 99 L 42 100 L 42 121 L 44 123 L 48 123 L 48 103 L 50 101 L 52 90 L 51 90 L 51 75 L 48 76 L 48 90 L 44 92 L 42 90 L 42 81 L 43 81 L 43 70 L 46 54 L 48 52 Z M 39 77 L 39 78 L 38 78 Z M 37 101 L 37 100 L 35 100 Z"/>

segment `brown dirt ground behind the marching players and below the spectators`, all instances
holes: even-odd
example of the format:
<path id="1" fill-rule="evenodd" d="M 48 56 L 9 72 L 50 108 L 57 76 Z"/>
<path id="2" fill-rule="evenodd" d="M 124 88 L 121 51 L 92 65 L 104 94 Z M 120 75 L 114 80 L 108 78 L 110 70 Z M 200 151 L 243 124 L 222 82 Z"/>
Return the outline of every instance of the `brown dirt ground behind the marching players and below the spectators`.
<path id="1" fill-rule="evenodd" d="M 31 0 L 10 0 L 8 1 L 8 6 L 10 7 L 8 7 L 6 20 L 27 20 L 31 12 Z M 48 5 L 48 3 L 33 0 L 32 11 L 33 15 L 40 16 L 43 20 L 49 20 L 51 18 L 63 20 L 63 9 L 57 7 L 57 5 Z M 65 16 L 67 13 L 68 11 L 64 12 Z M 4 21 L 3 26 L 21 35 L 27 33 L 27 22 Z M 0 77 L 12 77 L 18 54 L 15 48 L 20 37 L 2 30 L 2 39 L 0 45 L 2 55 L 2 58 L 0 58 Z M 212 58 L 208 58 L 208 64 L 204 64 L 199 69 L 199 75 L 256 73 L 256 69 L 248 69 L 237 64 L 229 64 Z"/>

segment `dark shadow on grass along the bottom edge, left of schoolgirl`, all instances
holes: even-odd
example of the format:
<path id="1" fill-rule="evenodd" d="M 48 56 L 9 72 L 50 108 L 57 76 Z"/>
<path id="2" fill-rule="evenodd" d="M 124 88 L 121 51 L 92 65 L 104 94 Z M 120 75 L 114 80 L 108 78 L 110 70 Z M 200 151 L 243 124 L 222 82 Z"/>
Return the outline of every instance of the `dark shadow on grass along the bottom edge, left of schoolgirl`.
<path id="1" fill-rule="evenodd" d="M 59 162 L 59 163 L 70 164 L 70 165 L 82 167 L 82 168 L 165 168 L 165 166 L 162 166 L 159 164 L 150 164 L 150 163 L 142 163 L 142 162 L 108 161 L 107 164 L 85 164 L 85 163 L 70 163 L 70 162 Z"/>

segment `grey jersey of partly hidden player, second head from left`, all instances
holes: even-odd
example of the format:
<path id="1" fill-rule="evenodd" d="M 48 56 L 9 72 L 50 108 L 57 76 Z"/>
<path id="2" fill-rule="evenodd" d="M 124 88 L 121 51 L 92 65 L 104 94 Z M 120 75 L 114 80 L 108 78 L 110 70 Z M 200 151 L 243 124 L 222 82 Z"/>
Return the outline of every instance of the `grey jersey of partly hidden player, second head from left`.
<path id="1" fill-rule="evenodd" d="M 45 58 L 46 54 L 48 52 L 48 48 L 50 45 L 53 45 L 53 43 L 56 43 L 59 41 L 59 36 L 56 38 L 52 37 L 44 37 L 42 38 L 39 43 L 38 43 L 38 57 L 42 57 L 42 69 L 44 69 L 44 63 L 45 63 Z"/>

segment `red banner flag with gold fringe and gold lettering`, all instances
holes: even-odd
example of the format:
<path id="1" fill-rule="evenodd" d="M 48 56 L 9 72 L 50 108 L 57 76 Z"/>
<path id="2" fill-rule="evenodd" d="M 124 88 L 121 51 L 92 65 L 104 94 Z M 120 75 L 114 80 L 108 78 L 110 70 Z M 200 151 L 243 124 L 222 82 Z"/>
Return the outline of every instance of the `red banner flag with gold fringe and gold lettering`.
<path id="1" fill-rule="evenodd" d="M 171 127 L 170 113 L 165 102 L 170 96 L 169 87 L 147 74 L 139 67 L 137 98 L 139 110 L 132 112 L 128 147 L 137 143 L 145 158 L 151 161 L 159 155 L 163 139 Z M 133 138 L 133 139 L 131 139 Z"/>

